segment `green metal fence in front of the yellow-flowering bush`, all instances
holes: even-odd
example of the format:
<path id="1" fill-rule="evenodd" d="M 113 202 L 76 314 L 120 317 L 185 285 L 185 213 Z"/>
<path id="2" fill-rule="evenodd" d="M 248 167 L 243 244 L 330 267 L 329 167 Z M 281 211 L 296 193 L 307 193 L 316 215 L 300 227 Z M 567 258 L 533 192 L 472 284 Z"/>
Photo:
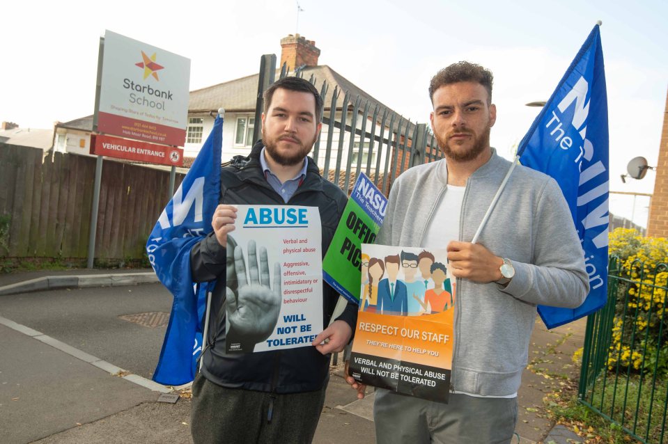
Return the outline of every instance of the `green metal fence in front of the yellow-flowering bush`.
<path id="1" fill-rule="evenodd" d="M 643 443 L 666 443 L 668 265 L 609 263 L 608 301 L 587 319 L 580 402 Z"/>

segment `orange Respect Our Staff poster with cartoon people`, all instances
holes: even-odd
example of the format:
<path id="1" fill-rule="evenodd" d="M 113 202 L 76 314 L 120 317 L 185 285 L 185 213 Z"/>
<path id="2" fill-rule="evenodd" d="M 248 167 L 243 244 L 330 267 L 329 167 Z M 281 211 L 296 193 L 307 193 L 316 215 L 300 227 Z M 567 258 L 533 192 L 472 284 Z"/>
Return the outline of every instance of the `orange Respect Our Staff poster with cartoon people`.
<path id="1" fill-rule="evenodd" d="M 455 285 L 445 249 L 362 244 L 369 257 L 350 356 L 355 381 L 447 402 Z"/>

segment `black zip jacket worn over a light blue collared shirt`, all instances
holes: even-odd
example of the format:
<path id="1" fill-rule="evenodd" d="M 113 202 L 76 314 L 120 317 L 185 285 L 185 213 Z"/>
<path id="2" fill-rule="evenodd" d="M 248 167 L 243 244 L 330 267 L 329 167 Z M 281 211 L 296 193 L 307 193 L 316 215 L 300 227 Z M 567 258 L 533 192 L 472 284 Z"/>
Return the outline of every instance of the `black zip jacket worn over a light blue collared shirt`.
<path id="1" fill-rule="evenodd" d="M 221 169 L 220 202 L 318 207 L 323 225 L 324 255 L 347 202 L 345 194 L 323 179 L 313 159 L 307 157 L 306 177 L 286 204 L 265 180 L 259 160 L 262 148 L 262 141 L 258 141 L 249 157 L 235 157 L 229 166 Z M 329 355 L 323 356 L 315 347 L 226 354 L 226 249 L 220 246 L 213 232 L 192 248 L 190 264 L 193 279 L 197 282 L 216 280 L 209 317 L 208 349 L 203 354 L 201 370 L 206 379 L 229 388 L 274 393 L 299 393 L 323 387 L 329 374 Z M 323 299 L 323 325 L 327 326 L 339 294 L 324 281 Z M 348 303 L 338 319 L 347 322 L 354 331 L 357 306 Z"/>

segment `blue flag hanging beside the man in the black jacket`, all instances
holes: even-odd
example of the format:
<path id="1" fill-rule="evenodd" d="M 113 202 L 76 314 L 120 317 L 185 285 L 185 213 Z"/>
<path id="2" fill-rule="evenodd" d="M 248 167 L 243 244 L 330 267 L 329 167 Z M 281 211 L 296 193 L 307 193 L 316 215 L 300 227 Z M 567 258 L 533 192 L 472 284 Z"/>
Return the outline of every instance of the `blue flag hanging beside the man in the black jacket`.
<path id="1" fill-rule="evenodd" d="M 220 196 L 223 119 L 218 116 L 202 149 L 173 198 L 162 210 L 146 243 L 148 260 L 173 294 L 169 325 L 153 379 L 180 386 L 195 377 L 202 351 L 202 319 L 212 283 L 194 285 L 190 250 L 212 231 Z"/>

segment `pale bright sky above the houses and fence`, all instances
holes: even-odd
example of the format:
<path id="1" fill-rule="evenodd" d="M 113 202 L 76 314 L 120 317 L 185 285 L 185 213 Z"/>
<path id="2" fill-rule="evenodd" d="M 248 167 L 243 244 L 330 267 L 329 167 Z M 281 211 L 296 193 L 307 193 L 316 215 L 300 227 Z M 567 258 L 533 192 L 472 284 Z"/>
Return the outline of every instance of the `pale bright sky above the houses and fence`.
<path id="1" fill-rule="evenodd" d="M 320 65 L 413 122 L 428 122 L 430 78 L 460 60 L 495 76 L 491 142 L 510 158 L 597 20 L 605 58 L 610 190 L 652 193 L 655 174 L 627 179 L 628 161 L 658 158 L 668 89 L 668 2 L 13 1 L 3 6 L 0 120 L 52 128 L 93 113 L 105 29 L 191 59 L 195 90 L 258 72 L 280 40 L 315 40 Z M 649 200 L 611 195 L 610 211 L 646 226 Z"/>

